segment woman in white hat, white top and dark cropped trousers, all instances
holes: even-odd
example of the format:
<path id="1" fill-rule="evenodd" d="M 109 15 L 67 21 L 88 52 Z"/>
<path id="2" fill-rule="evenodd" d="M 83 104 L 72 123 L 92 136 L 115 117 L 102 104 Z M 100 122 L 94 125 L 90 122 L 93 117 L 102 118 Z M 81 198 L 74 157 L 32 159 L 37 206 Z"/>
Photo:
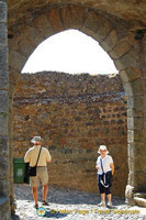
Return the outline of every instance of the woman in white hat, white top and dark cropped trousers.
<path id="1" fill-rule="evenodd" d="M 97 160 L 98 169 L 98 185 L 99 191 L 101 195 L 101 202 L 99 204 L 100 207 L 105 206 L 105 195 L 108 197 L 108 207 L 112 207 L 111 202 L 111 186 L 112 186 L 112 176 L 114 173 L 114 164 L 113 160 L 110 155 L 108 155 L 108 150 L 105 145 L 100 145 L 99 154 L 101 154 Z"/>

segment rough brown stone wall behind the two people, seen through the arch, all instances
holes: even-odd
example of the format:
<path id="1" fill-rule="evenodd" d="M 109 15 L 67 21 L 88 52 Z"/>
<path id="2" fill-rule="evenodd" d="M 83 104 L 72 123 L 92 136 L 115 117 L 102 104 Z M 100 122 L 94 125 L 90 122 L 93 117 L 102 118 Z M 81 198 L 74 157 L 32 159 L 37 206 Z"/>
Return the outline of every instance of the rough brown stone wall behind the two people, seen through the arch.
<path id="1" fill-rule="evenodd" d="M 97 151 L 105 144 L 115 163 L 113 194 L 127 183 L 126 97 L 119 75 L 21 75 L 13 103 L 14 157 L 33 135 L 43 138 L 53 162 L 49 184 L 98 191 Z"/>

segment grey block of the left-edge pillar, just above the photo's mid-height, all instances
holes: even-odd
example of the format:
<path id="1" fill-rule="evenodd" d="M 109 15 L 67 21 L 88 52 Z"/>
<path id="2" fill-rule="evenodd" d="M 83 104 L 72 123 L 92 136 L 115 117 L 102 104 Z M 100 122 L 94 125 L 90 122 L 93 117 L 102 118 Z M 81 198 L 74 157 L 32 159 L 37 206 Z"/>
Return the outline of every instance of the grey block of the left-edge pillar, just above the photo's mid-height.
<path id="1" fill-rule="evenodd" d="M 0 112 L 8 112 L 9 95 L 7 90 L 0 90 Z"/>

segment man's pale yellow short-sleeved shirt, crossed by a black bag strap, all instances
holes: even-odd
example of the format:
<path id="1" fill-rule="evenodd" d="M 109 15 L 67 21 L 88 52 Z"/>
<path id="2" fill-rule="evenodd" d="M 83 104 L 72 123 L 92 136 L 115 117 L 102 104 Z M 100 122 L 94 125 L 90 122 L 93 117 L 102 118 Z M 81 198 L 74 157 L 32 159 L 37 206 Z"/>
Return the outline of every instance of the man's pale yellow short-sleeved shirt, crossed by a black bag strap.
<path id="1" fill-rule="evenodd" d="M 31 147 L 24 156 L 24 162 L 25 163 L 30 162 L 30 166 L 35 166 L 36 161 L 37 161 L 37 156 L 38 156 L 38 153 L 40 153 L 40 148 L 41 148 L 41 146 L 37 146 L 37 145 Z M 50 156 L 48 150 L 45 148 L 45 147 L 42 147 L 37 166 L 46 166 L 47 165 L 46 162 L 50 161 L 50 160 L 52 160 L 52 156 Z"/>

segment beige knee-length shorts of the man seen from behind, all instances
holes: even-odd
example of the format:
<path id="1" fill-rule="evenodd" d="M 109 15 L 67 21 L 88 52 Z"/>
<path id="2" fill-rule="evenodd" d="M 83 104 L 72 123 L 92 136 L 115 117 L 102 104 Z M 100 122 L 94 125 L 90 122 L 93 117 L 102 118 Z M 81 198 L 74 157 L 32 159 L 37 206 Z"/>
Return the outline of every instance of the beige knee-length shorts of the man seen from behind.
<path id="1" fill-rule="evenodd" d="M 42 185 L 48 184 L 48 173 L 47 167 L 37 167 L 36 169 L 36 176 L 31 176 L 30 182 L 32 187 L 38 187 L 40 180 L 42 182 Z"/>

